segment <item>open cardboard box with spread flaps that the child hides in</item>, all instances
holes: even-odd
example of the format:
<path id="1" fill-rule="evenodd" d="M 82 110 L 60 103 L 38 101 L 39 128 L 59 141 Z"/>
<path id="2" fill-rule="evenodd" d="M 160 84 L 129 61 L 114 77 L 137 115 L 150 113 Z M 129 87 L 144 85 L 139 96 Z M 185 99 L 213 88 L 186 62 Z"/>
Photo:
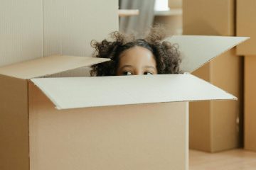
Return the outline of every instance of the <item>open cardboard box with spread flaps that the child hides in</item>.
<path id="1" fill-rule="evenodd" d="M 168 40 L 192 72 L 246 39 Z M 188 169 L 188 101 L 235 99 L 191 74 L 46 78 L 105 61 L 51 56 L 0 68 L 1 169 Z"/>

